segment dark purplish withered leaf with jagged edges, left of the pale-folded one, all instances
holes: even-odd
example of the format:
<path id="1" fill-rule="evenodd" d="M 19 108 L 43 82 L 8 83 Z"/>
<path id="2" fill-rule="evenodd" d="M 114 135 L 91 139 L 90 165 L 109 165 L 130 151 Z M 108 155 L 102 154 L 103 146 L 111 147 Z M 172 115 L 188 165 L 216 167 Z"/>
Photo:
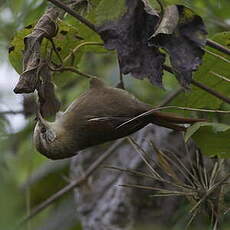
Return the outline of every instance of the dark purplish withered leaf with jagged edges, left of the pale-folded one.
<path id="1" fill-rule="evenodd" d="M 147 0 L 127 0 L 126 5 L 122 17 L 98 27 L 105 48 L 117 51 L 122 73 L 139 79 L 147 77 L 162 86 L 165 55 L 158 48 L 148 47 L 148 38 L 159 17 Z"/>

